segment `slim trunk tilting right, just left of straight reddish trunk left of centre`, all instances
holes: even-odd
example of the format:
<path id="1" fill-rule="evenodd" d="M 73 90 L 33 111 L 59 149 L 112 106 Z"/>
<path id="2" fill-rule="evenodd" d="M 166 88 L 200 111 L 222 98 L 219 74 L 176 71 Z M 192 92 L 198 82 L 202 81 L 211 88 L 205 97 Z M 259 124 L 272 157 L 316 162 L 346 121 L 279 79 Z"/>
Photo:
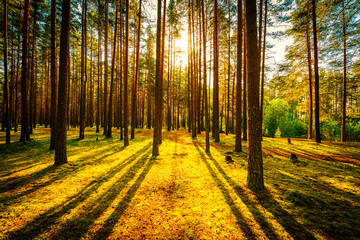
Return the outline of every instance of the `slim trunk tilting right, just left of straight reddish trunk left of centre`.
<path id="1" fill-rule="evenodd" d="M 111 83 L 110 83 L 110 94 L 109 94 L 109 116 L 108 116 L 108 130 L 106 131 L 106 137 L 111 138 L 111 128 L 112 128 L 112 109 L 113 109 L 113 91 L 114 91 L 114 72 L 115 72 L 115 59 L 116 59 L 116 40 L 117 40 L 117 23 L 118 23 L 118 9 L 116 8 L 115 12 L 115 29 L 114 29 L 114 47 L 113 47 L 113 56 L 111 63 Z"/>

